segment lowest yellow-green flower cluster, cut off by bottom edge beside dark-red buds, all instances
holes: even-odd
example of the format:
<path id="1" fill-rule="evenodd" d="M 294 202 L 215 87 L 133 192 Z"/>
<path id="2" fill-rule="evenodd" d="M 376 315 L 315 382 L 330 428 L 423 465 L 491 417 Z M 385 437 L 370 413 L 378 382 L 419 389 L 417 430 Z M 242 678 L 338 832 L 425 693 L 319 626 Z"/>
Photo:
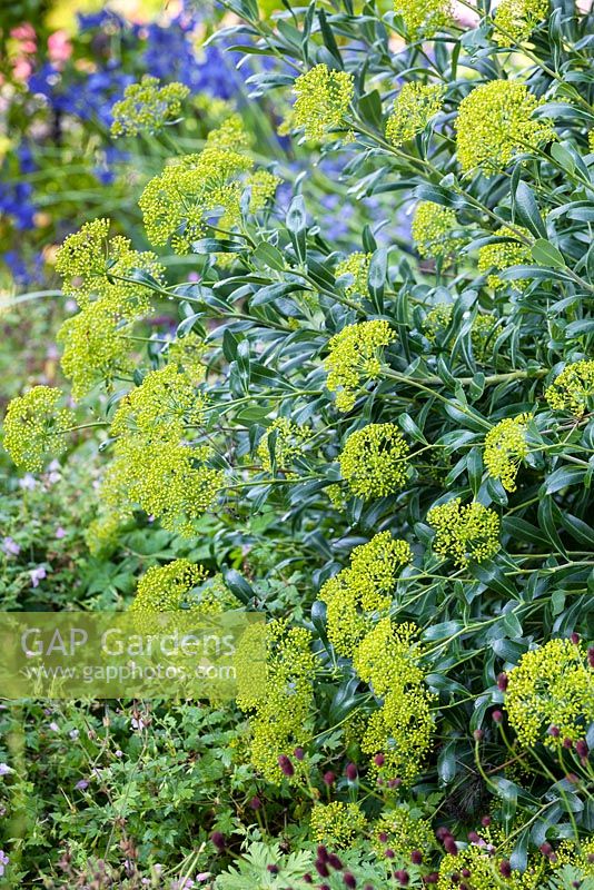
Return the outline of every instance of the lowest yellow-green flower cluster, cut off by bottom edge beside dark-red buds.
<path id="1" fill-rule="evenodd" d="M 548 863 L 539 856 L 528 860 L 525 871 L 514 870 L 509 877 L 502 878 L 501 866 L 504 857 L 493 853 L 488 846 L 475 843 L 458 850 L 457 856 L 444 856 L 439 863 L 437 890 L 459 890 L 461 874 L 467 890 L 542 890 L 546 886 Z"/>

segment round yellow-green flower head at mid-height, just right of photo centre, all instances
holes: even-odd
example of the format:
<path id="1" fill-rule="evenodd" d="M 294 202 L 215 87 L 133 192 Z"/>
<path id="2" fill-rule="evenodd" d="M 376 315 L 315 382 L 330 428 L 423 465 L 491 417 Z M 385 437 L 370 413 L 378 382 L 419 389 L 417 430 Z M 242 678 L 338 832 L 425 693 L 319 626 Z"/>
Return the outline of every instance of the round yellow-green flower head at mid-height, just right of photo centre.
<path id="1" fill-rule="evenodd" d="M 386 497 L 405 485 L 409 451 L 396 424 L 368 424 L 347 438 L 340 473 L 356 497 Z"/>

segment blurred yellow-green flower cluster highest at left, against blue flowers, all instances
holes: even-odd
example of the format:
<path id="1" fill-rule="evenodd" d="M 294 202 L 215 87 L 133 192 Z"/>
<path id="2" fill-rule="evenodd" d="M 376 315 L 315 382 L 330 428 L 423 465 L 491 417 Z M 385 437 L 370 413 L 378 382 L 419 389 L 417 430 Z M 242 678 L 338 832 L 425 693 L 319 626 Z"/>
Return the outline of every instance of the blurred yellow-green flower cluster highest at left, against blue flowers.
<path id="1" fill-rule="evenodd" d="M 184 83 L 166 83 L 160 87 L 156 77 L 145 75 L 139 83 L 130 83 L 123 90 L 123 99 L 111 109 L 113 122 L 111 136 L 137 136 L 139 132 L 157 132 L 179 118 L 181 102 L 189 95 Z"/>

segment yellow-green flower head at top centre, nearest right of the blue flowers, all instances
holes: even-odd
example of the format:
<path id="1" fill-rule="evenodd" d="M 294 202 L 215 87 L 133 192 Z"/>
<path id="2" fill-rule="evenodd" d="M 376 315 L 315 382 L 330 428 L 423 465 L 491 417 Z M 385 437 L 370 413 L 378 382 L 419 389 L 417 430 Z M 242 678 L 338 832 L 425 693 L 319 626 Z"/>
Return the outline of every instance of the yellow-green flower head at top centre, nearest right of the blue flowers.
<path id="1" fill-rule="evenodd" d="M 354 90 L 353 75 L 316 65 L 295 81 L 294 126 L 304 127 L 307 139 L 324 139 L 343 125 Z"/>

